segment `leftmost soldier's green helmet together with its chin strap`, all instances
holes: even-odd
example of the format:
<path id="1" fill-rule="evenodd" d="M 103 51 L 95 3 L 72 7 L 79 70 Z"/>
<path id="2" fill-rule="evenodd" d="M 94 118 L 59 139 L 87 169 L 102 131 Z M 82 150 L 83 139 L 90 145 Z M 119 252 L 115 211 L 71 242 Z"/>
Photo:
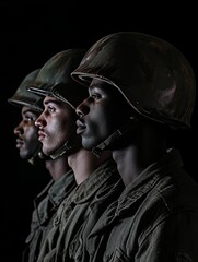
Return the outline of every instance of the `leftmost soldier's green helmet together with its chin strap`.
<path id="1" fill-rule="evenodd" d="M 40 96 L 33 94 L 27 91 L 27 87 L 31 86 L 38 74 L 39 69 L 36 69 L 28 73 L 20 83 L 15 93 L 8 99 L 8 103 L 16 107 L 30 107 L 38 115 L 43 111 L 43 99 Z M 39 159 L 47 159 L 47 156 L 42 152 L 42 143 L 39 143 L 34 155 L 28 159 L 28 163 L 35 165 Z"/>

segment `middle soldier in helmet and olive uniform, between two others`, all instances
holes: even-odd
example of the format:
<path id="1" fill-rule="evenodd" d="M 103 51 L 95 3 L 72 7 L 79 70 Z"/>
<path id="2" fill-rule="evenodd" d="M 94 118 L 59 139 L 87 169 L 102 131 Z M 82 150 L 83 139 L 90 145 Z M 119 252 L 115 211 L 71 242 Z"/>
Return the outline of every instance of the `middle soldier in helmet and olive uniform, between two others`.
<path id="1" fill-rule="evenodd" d="M 116 163 L 109 151 L 100 157 L 82 147 L 77 134 L 75 107 L 88 91 L 72 80 L 84 51 L 68 49 L 53 56 L 40 69 L 30 92 L 44 97 L 44 111 L 36 119 L 39 141 L 46 155 L 55 157 L 69 151 L 68 163 L 73 170 L 77 188 L 62 201 L 42 247 L 38 261 L 75 259 L 75 242 L 92 214 L 101 214 L 124 189 Z M 80 259 L 80 258 L 78 258 Z"/>

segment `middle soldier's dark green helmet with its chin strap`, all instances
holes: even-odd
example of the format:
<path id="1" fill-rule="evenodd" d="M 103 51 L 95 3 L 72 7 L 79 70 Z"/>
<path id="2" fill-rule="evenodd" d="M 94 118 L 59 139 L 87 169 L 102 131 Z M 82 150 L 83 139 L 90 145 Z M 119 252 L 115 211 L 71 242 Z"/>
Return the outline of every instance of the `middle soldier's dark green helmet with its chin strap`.
<path id="1" fill-rule="evenodd" d="M 79 66 L 84 49 L 68 49 L 54 55 L 40 69 L 30 92 L 40 96 L 53 96 L 75 107 L 88 96 L 88 91 L 73 81 L 71 72 Z M 73 133 L 65 144 L 50 155 L 53 159 L 71 154 L 82 147 L 81 136 Z"/>

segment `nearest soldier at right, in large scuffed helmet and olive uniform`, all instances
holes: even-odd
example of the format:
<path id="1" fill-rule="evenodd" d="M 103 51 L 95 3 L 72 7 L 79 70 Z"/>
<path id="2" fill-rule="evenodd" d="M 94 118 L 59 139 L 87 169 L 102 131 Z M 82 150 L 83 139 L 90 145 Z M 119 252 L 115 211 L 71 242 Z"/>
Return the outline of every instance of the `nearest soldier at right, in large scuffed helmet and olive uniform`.
<path id="1" fill-rule="evenodd" d="M 190 128 L 189 62 L 165 40 L 118 32 L 96 41 L 71 75 L 89 88 L 77 108 L 82 145 L 110 150 L 125 183 L 84 238 L 84 261 L 198 261 L 198 186 L 166 138 Z"/>

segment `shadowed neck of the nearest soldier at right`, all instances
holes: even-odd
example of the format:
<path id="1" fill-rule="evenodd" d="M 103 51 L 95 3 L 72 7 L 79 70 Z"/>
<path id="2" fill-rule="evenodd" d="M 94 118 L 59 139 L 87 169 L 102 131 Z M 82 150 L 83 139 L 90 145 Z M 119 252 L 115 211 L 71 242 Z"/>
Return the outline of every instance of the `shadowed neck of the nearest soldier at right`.
<path id="1" fill-rule="evenodd" d="M 113 151 L 113 158 L 117 163 L 118 171 L 127 187 L 165 153 L 164 133 L 144 126 L 140 131 L 131 134 L 128 144 Z"/>

